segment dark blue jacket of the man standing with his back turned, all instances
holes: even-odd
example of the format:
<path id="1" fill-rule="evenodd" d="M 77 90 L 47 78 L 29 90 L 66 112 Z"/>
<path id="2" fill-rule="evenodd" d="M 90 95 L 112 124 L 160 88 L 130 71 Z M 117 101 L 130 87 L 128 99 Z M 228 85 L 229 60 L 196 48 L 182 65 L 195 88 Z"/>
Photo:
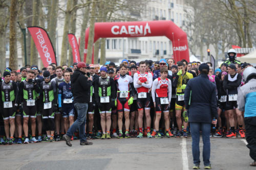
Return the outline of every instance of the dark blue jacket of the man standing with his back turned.
<path id="1" fill-rule="evenodd" d="M 190 79 L 184 95 L 188 122 L 211 123 L 213 117 L 218 118 L 216 95 L 216 85 L 209 81 L 207 75 L 201 74 Z"/>

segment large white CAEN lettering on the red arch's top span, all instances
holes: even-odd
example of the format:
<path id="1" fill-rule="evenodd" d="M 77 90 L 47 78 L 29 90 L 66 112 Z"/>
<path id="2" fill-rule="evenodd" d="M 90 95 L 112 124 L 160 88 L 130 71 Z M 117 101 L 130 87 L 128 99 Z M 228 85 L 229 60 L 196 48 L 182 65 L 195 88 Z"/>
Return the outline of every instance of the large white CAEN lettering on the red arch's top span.
<path id="1" fill-rule="evenodd" d="M 144 28 L 143 28 L 144 27 Z M 143 35 L 145 36 L 146 34 L 151 34 L 151 29 L 150 26 L 148 26 L 148 23 L 146 23 L 145 26 L 127 26 L 127 28 L 125 26 L 113 26 L 111 28 L 111 32 L 114 35 L 118 35 L 118 34 L 130 34 L 131 36 L 138 36 L 138 35 Z"/>

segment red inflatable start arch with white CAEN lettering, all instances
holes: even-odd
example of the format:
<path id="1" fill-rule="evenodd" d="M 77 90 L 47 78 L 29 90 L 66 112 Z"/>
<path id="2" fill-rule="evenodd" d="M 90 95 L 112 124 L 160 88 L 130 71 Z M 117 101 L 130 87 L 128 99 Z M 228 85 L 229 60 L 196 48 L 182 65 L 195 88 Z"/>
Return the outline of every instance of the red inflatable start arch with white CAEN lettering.
<path id="1" fill-rule="evenodd" d="M 84 61 L 87 57 L 89 29 L 86 30 Z M 175 61 L 185 59 L 189 62 L 187 35 L 170 20 L 132 21 L 132 22 L 95 22 L 94 42 L 99 38 L 110 37 L 150 37 L 166 36 L 173 42 Z M 92 56 L 93 62 L 93 56 Z"/>

